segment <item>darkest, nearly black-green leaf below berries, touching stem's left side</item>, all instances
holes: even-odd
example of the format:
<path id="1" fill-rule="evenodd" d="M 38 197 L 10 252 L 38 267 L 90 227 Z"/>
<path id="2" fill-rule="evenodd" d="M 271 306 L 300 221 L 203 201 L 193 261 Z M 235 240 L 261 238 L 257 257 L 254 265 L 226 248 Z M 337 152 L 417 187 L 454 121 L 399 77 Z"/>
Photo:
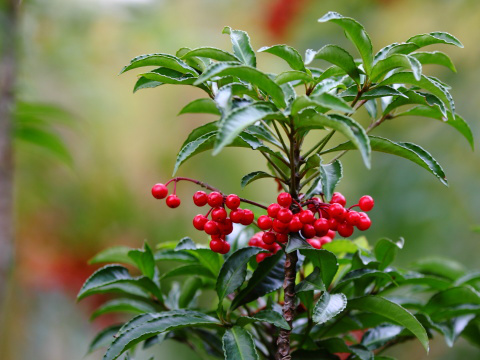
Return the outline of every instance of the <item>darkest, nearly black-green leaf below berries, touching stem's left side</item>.
<path id="1" fill-rule="evenodd" d="M 247 285 L 232 301 L 230 308 L 247 304 L 266 294 L 280 289 L 284 280 L 284 253 L 278 251 L 258 264 Z"/>

